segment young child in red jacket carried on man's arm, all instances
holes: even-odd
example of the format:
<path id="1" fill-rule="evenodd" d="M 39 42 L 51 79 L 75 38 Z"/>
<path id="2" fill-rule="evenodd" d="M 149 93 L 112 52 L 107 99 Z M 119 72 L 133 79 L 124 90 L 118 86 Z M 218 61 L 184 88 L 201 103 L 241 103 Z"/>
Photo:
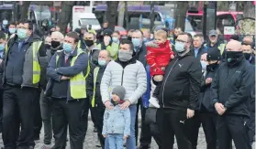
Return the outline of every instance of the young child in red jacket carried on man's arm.
<path id="1" fill-rule="evenodd" d="M 164 30 L 158 30 L 154 33 L 154 40 L 146 43 L 147 47 L 147 61 L 150 65 L 151 77 L 163 77 L 164 69 L 169 64 L 170 59 L 174 58 L 172 47 L 167 40 L 167 32 Z M 155 82 L 156 88 L 152 97 L 150 98 L 150 104 L 156 108 L 160 108 L 157 96 L 161 89 L 161 81 Z"/>

